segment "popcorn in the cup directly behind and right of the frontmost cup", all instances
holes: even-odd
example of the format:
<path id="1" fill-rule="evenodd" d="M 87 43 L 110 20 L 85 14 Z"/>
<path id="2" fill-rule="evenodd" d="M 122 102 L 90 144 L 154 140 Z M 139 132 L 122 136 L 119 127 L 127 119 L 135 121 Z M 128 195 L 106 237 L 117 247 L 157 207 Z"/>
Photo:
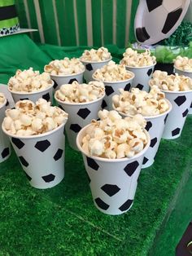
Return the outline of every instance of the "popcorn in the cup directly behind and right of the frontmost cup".
<path id="1" fill-rule="evenodd" d="M 116 111 L 131 116 L 156 116 L 169 108 L 164 92 L 158 86 L 152 86 L 149 93 L 138 88 L 132 88 L 131 92 L 120 89 L 120 95 L 114 95 L 112 102 Z"/>

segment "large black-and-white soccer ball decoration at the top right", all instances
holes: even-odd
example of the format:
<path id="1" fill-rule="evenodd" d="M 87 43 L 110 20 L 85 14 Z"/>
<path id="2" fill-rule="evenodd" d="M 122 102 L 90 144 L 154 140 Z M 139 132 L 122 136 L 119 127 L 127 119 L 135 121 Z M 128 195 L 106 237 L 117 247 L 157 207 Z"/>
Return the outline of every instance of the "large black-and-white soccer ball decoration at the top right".
<path id="1" fill-rule="evenodd" d="M 190 0 L 140 0 L 134 24 L 137 41 L 151 45 L 168 38 L 189 6 Z"/>

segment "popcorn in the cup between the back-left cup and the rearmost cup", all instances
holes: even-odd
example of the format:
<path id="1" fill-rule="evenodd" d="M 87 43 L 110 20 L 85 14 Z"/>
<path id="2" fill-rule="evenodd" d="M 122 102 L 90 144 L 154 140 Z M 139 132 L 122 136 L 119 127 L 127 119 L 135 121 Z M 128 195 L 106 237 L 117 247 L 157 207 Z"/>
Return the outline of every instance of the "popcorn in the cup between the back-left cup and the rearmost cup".
<path id="1" fill-rule="evenodd" d="M 64 58 L 63 60 L 52 60 L 50 64 L 45 65 L 44 71 L 50 73 L 50 75 L 66 76 L 85 71 L 84 65 L 77 58 Z"/>

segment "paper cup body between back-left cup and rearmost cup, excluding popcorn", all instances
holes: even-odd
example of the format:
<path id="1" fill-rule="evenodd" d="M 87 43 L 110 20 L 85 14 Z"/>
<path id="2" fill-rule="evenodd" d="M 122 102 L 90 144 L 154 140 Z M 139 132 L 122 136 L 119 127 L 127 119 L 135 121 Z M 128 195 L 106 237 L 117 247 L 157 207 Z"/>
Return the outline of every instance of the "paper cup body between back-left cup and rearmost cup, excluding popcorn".
<path id="1" fill-rule="evenodd" d="M 85 72 L 82 71 L 81 73 L 74 73 L 72 75 L 51 75 L 51 79 L 55 82 L 54 83 L 54 90 L 59 90 L 60 86 L 65 85 L 65 84 L 71 84 L 72 82 L 76 81 L 78 83 L 83 82 L 83 73 Z"/>

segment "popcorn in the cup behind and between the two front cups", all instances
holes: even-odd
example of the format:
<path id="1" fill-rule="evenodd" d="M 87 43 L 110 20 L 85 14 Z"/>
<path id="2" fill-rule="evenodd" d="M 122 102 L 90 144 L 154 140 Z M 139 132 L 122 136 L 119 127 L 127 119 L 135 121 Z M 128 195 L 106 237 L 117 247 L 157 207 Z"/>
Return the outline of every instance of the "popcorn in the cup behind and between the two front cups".
<path id="1" fill-rule="evenodd" d="M 74 81 L 72 84 L 65 84 L 55 92 L 55 98 L 63 102 L 83 103 L 93 101 L 105 95 L 103 82 L 91 81 L 88 84 L 79 84 Z"/>

